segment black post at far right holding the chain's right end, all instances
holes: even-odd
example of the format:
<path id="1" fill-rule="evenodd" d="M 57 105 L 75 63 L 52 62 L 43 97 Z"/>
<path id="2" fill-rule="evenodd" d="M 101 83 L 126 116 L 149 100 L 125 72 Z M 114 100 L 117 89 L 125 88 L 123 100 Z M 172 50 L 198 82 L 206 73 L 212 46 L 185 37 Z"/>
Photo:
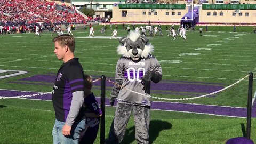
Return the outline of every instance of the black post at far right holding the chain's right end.
<path id="1" fill-rule="evenodd" d="M 246 137 L 251 137 L 251 117 L 252 117 L 252 81 L 253 73 L 249 73 L 249 86 L 248 86 L 248 102 L 247 102 L 247 125 L 246 125 Z"/>

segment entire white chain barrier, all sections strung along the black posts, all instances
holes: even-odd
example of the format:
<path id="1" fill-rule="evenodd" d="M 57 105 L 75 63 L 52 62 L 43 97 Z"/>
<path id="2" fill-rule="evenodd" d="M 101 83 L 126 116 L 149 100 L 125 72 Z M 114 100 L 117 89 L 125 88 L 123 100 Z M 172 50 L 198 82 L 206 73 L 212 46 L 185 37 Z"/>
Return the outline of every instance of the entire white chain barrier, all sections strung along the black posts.
<path id="1" fill-rule="evenodd" d="M 120 87 L 120 88 L 122 88 L 122 89 L 125 89 L 125 90 L 127 90 L 127 91 L 130 91 L 130 92 L 133 92 L 133 93 L 136 93 L 136 94 L 139 94 L 139 95 L 143 95 L 143 96 L 145 96 L 145 97 L 153 98 L 153 99 L 161 99 L 161 100 L 192 100 L 192 99 L 198 99 L 198 98 L 207 97 L 207 96 L 209 96 L 209 95 L 213 95 L 213 94 L 219 93 L 219 92 L 221 92 L 221 91 L 224 91 L 224 90 L 228 89 L 229 87 L 234 86 L 234 85 L 238 84 L 239 82 L 243 81 L 243 80 L 244 80 L 246 77 L 248 77 L 248 76 L 249 76 L 249 75 L 246 75 L 245 77 L 239 79 L 237 82 L 235 82 L 235 83 L 233 83 L 233 84 L 231 84 L 231 85 L 229 85 L 229 86 L 227 86 L 227 87 L 225 87 L 225 88 L 223 88 L 223 89 L 221 89 L 221 90 L 218 90 L 218 91 L 215 91 L 215 92 L 212 92 L 212 93 L 208 93 L 208 94 L 204 94 L 204 95 L 200 95 L 200 96 L 197 96 L 197 97 L 192 97 L 192 98 L 180 98 L 180 99 L 175 99 L 175 98 L 161 98 L 161 97 L 154 97 L 154 96 L 151 96 L 151 95 L 149 95 L 149 94 L 142 94 L 142 93 L 135 92 L 135 91 L 132 91 L 132 90 L 130 90 L 130 89 L 127 89 L 126 87 L 121 86 L 121 85 L 119 85 L 119 84 L 117 84 L 117 83 L 111 81 L 111 80 L 108 79 L 108 78 L 107 78 L 106 80 L 107 80 L 107 82 L 112 83 L 112 84 L 114 84 L 114 85 L 116 85 L 116 86 L 118 86 L 118 87 Z M 100 81 L 100 80 L 101 80 L 100 78 L 95 79 L 95 80 L 93 81 L 93 83 L 98 82 L 98 81 Z M 34 96 L 38 96 L 38 95 L 45 95 L 45 94 L 51 94 L 51 93 L 52 93 L 52 92 L 45 92 L 45 93 L 37 93 L 37 94 L 29 94 L 29 95 L 20 95 L 20 96 L 15 96 L 15 97 L 0 96 L 0 99 L 27 98 L 27 97 L 34 97 Z"/>

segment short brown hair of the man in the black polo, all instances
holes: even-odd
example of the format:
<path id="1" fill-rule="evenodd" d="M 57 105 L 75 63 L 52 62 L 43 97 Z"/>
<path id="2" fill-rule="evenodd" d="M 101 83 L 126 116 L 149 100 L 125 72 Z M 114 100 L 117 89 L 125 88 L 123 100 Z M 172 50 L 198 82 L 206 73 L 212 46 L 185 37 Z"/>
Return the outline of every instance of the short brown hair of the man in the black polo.
<path id="1" fill-rule="evenodd" d="M 52 42 L 58 42 L 62 47 L 64 47 L 65 45 L 67 45 L 69 47 L 69 50 L 71 52 L 75 51 L 75 38 L 73 36 L 70 36 L 68 34 L 63 34 L 57 37 L 54 37 L 52 39 Z"/>

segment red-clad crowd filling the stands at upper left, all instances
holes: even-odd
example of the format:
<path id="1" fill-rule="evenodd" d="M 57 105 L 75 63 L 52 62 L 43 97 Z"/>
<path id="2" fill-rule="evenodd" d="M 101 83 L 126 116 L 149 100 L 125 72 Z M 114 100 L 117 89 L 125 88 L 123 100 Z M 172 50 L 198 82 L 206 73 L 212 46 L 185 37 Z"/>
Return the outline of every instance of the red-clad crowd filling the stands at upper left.
<path id="1" fill-rule="evenodd" d="M 46 0 L 1 0 L 1 23 L 85 23 L 75 9 Z"/>

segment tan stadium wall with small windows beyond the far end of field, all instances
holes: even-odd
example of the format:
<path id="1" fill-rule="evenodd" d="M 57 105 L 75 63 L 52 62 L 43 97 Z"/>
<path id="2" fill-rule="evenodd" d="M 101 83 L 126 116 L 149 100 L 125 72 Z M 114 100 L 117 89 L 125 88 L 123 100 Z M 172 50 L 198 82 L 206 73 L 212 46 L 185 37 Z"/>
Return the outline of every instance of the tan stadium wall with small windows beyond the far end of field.
<path id="1" fill-rule="evenodd" d="M 189 11 L 186 5 L 185 9 L 155 9 L 155 13 L 149 15 L 150 9 L 123 9 L 120 6 L 113 7 L 113 18 L 111 22 L 142 22 L 148 23 L 180 23 L 180 19 Z M 212 5 L 212 7 L 199 6 L 199 24 L 216 24 L 216 25 L 256 25 L 256 5 L 241 5 L 249 6 L 249 9 L 243 8 L 234 9 L 235 5 L 227 7 L 227 5 Z M 225 6 L 225 7 L 223 7 Z M 239 10 L 236 11 L 235 10 Z M 125 12 L 125 15 L 124 15 Z M 167 15 L 169 13 L 169 15 Z M 180 13 L 180 15 L 178 15 Z"/>

